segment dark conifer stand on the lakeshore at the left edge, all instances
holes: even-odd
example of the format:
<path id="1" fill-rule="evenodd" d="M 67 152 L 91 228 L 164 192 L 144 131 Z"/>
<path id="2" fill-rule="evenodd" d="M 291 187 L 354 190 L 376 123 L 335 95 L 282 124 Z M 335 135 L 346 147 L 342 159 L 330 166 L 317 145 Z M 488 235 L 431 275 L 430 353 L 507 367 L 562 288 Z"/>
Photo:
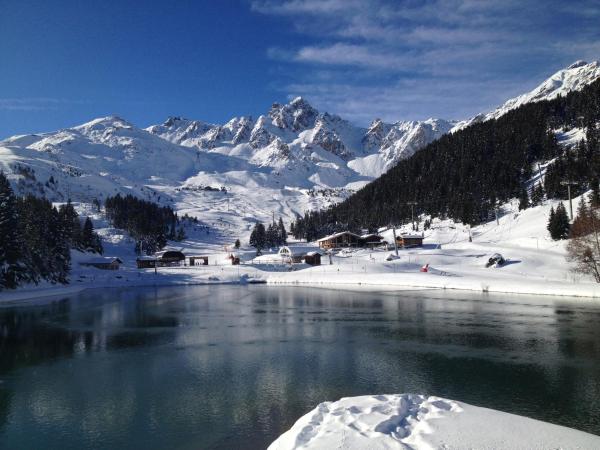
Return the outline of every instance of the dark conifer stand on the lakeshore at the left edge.
<path id="1" fill-rule="evenodd" d="M 68 283 L 71 249 L 102 253 L 90 218 L 83 225 L 69 201 L 15 196 L 0 172 L 0 289 L 23 283 Z"/>

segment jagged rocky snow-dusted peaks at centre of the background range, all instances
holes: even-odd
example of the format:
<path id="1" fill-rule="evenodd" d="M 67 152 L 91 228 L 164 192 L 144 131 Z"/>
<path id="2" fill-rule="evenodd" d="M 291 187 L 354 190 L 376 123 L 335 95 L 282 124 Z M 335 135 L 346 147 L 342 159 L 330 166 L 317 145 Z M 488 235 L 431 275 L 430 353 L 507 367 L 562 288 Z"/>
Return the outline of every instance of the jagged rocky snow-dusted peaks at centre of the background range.
<path id="1" fill-rule="evenodd" d="M 368 129 L 357 127 L 339 116 L 320 113 L 305 99 L 273 104 L 259 116 L 235 117 L 224 125 L 171 117 L 147 130 L 175 144 L 201 151 L 246 159 L 261 167 L 284 167 L 304 161 L 334 164 L 353 182 L 374 178 L 400 159 L 412 155 L 442 134 L 453 123 L 429 119 L 385 124 L 377 119 Z M 341 187 L 339 177 L 315 184 Z"/>

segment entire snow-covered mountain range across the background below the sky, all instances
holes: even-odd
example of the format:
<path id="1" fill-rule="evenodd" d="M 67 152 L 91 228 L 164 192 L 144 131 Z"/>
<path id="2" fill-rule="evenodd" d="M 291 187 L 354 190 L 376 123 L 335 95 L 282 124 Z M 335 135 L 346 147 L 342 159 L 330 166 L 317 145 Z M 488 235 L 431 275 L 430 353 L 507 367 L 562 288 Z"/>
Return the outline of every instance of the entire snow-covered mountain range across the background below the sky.
<path id="1" fill-rule="evenodd" d="M 141 129 L 111 116 L 0 141 L 0 170 L 20 194 L 91 201 L 132 193 L 171 202 L 182 213 L 223 227 L 247 229 L 273 213 L 289 220 L 326 207 L 451 130 L 581 89 L 598 77 L 597 62 L 578 62 L 460 123 L 375 119 L 363 128 L 300 97 L 275 103 L 257 118 L 235 117 L 222 125 L 171 117 Z"/>

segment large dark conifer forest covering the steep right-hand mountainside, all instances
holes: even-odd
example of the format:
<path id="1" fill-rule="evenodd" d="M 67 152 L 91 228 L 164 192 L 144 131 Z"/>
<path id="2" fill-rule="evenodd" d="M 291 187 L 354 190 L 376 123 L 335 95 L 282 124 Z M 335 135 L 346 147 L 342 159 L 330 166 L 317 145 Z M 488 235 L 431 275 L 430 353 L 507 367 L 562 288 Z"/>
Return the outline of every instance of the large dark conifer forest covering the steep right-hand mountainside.
<path id="1" fill-rule="evenodd" d="M 560 184 L 565 179 L 579 181 L 580 191 L 597 191 L 599 120 L 600 80 L 564 97 L 522 105 L 442 136 L 345 201 L 299 216 L 292 232 L 313 240 L 345 229 L 408 223 L 411 202 L 417 203 L 415 214 L 475 225 L 493 218 L 497 205 L 512 198 L 520 198 L 522 207 L 544 197 L 565 199 L 566 188 Z M 555 130 L 575 127 L 586 129 L 586 141 L 565 150 Z M 553 162 L 544 185 L 528 192 L 539 161 Z"/>

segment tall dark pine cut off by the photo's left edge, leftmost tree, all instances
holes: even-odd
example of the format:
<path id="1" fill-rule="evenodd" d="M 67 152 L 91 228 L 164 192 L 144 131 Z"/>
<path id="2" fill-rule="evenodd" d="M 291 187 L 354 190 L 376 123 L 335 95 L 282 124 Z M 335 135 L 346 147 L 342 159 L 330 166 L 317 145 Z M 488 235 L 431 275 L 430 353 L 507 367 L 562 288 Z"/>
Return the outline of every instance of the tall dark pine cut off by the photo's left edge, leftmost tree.
<path id="1" fill-rule="evenodd" d="M 0 289 L 14 289 L 23 275 L 18 221 L 14 193 L 0 172 Z"/>

